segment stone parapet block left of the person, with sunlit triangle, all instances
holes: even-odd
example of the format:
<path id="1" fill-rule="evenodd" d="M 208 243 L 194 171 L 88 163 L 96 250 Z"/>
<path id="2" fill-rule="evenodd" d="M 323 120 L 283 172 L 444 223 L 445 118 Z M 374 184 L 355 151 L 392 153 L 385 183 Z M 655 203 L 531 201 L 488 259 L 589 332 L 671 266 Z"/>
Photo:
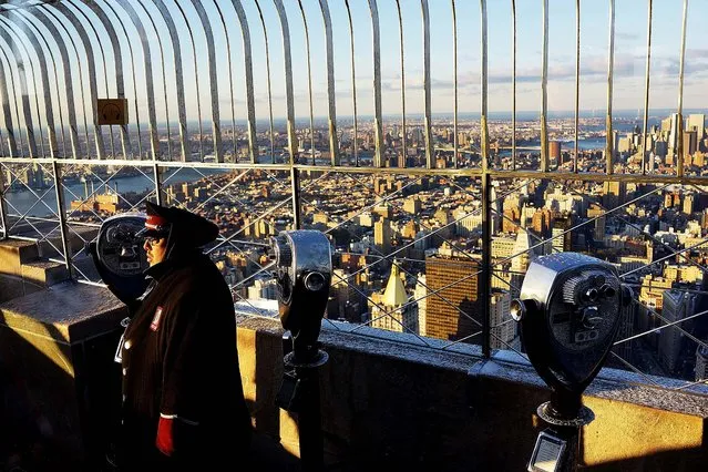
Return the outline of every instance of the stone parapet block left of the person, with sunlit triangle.
<path id="1" fill-rule="evenodd" d="M 126 309 L 107 289 L 63 283 L 0 304 L 0 463 L 96 470 L 120 402 L 113 356 Z M 2 438 L 6 440 L 6 438 Z"/>

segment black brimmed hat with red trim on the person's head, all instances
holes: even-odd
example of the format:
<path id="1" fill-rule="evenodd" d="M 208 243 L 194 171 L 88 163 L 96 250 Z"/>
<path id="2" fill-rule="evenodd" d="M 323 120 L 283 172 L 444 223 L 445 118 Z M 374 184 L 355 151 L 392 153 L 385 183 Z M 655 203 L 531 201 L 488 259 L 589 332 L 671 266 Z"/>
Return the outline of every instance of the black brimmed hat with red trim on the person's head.
<path id="1" fill-rule="evenodd" d="M 142 237 L 167 237 L 171 243 L 186 247 L 201 247 L 216 239 L 218 226 L 208 219 L 177 208 L 145 203 L 147 218 L 145 228 L 137 235 Z"/>

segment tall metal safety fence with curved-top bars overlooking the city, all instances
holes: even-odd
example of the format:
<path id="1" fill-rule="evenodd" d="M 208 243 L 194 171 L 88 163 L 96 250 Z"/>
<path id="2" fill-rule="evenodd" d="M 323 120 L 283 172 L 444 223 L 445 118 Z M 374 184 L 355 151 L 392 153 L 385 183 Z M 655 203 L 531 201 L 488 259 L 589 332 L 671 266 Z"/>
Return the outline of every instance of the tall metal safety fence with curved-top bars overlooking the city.
<path id="1" fill-rule="evenodd" d="M 265 314 L 265 239 L 317 228 L 335 255 L 331 329 L 522 358 L 509 305 L 530 261 L 583 252 L 615 264 L 635 295 L 609 363 L 705 393 L 708 136 L 700 110 L 684 113 L 689 4 L 665 115 L 650 106 L 656 14 L 640 4 L 644 76 L 617 71 L 614 0 L 574 12 L 548 0 L 3 2 L 2 235 L 100 284 L 85 247 L 102 220 L 147 199 L 182 206 L 219 225 L 206 250 L 235 302 Z M 582 68 L 581 44 L 583 16 L 601 7 L 603 73 Z M 575 20 L 564 86 L 548 66 L 554 9 Z M 524 30 L 522 14 L 540 29 Z M 504 40 L 488 25 L 500 18 Z M 541 66 L 519 73 L 519 40 L 531 37 Z M 505 76 L 490 70 L 502 62 L 494 40 L 509 47 Z M 601 75 L 601 116 L 581 107 L 584 74 Z M 636 117 L 613 112 L 626 83 L 644 92 Z M 574 104 L 567 116 L 548 111 L 554 92 Z M 530 117 L 517 111 L 527 93 Z M 117 99 L 129 124 L 102 124 L 116 112 L 100 99 Z"/>

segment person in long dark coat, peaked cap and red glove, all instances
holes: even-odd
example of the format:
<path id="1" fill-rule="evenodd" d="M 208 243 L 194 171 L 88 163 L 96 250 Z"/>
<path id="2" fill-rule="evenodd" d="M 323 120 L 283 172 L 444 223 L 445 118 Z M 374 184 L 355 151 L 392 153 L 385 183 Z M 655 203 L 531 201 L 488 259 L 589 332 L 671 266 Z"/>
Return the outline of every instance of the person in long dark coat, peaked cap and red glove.
<path id="1" fill-rule="evenodd" d="M 121 470 L 244 470 L 250 421 L 230 290 L 201 247 L 218 227 L 147 203 L 151 278 L 119 348 Z"/>

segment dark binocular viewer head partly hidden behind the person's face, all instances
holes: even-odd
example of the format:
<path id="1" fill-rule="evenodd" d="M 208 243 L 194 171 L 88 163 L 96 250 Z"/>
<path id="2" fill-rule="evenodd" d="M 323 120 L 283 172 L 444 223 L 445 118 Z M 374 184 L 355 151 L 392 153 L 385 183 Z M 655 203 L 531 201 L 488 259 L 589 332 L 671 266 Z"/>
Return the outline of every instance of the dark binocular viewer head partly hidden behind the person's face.
<path id="1" fill-rule="evenodd" d="M 145 227 L 145 215 L 126 213 L 112 216 L 101 224 L 95 242 L 88 250 L 93 263 L 117 299 L 131 307 L 147 288 L 143 274 L 150 266 L 137 233 Z"/>

